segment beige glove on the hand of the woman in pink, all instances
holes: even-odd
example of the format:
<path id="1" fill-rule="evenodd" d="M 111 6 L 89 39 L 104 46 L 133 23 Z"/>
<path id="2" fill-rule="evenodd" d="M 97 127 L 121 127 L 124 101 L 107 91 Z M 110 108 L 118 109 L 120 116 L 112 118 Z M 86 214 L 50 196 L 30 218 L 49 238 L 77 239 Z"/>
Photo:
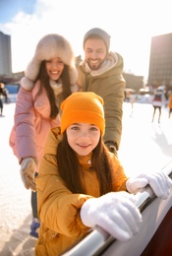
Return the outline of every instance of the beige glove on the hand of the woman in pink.
<path id="1" fill-rule="evenodd" d="M 24 159 L 21 163 L 21 177 L 24 185 L 27 189 L 36 191 L 36 185 L 34 182 L 34 174 L 36 170 L 35 160 L 32 158 Z"/>

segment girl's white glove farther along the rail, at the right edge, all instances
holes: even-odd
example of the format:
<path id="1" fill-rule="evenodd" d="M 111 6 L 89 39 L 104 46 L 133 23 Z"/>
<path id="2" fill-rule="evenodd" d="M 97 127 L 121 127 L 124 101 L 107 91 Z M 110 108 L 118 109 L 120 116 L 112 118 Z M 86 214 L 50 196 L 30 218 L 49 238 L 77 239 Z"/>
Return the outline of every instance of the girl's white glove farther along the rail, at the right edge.
<path id="1" fill-rule="evenodd" d="M 163 171 L 153 174 L 142 173 L 136 178 L 129 178 L 126 182 L 126 188 L 130 193 L 136 194 L 143 191 L 147 184 L 157 197 L 166 199 L 172 187 L 172 180 Z"/>

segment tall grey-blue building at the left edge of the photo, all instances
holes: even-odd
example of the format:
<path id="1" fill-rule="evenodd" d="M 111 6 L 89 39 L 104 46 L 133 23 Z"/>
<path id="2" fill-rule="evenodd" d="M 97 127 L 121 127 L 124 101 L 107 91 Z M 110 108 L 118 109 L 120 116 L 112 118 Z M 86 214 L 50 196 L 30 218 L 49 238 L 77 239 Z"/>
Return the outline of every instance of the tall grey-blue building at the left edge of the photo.
<path id="1" fill-rule="evenodd" d="M 12 76 L 11 36 L 0 32 L 0 76 Z"/>

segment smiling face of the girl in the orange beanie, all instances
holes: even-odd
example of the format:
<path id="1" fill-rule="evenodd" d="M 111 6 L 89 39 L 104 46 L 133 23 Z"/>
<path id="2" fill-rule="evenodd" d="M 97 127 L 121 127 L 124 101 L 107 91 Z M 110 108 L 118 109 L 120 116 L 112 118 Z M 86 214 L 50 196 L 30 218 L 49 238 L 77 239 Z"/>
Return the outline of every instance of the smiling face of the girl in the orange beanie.
<path id="1" fill-rule="evenodd" d="M 74 123 L 66 129 L 70 147 L 80 156 L 87 156 L 97 146 L 100 130 L 94 124 Z"/>

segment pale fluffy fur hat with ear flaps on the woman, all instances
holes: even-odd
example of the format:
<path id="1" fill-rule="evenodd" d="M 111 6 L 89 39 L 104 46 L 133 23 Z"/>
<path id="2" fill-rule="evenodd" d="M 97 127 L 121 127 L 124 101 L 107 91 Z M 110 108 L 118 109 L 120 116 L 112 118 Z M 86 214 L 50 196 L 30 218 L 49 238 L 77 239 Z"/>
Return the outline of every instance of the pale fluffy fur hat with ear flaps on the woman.
<path id="1" fill-rule="evenodd" d="M 33 82 L 38 75 L 40 64 L 43 60 L 59 57 L 69 66 L 71 84 L 75 84 L 78 72 L 75 66 L 75 56 L 70 42 L 62 35 L 50 33 L 43 36 L 35 48 L 33 58 L 25 71 L 26 77 L 21 80 L 21 86 L 26 90 L 31 90 Z"/>

